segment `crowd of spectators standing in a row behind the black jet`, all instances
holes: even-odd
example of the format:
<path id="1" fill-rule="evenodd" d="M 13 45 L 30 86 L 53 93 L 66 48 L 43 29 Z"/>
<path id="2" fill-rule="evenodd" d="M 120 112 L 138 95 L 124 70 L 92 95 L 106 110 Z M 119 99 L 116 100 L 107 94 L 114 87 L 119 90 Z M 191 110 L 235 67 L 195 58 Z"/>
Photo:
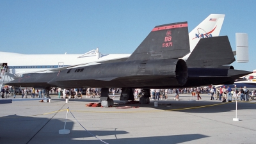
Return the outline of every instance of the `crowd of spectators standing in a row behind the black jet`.
<path id="1" fill-rule="evenodd" d="M 112 99 L 115 99 L 115 94 L 119 93 L 119 88 L 109 88 L 109 96 L 112 94 Z M 134 90 L 134 99 L 138 99 L 141 96 L 141 88 L 135 88 Z M 61 89 L 61 88 L 51 88 L 49 90 L 44 89 L 35 89 L 35 88 L 24 88 L 20 90 L 22 98 L 42 98 L 49 97 L 49 93 L 58 94 L 59 99 L 74 99 L 82 98 L 81 95 L 86 95 L 85 98 L 97 98 L 100 97 L 101 89 L 100 88 L 71 88 L 71 89 Z M 179 100 L 180 94 L 196 94 L 197 99 L 200 100 L 200 94 L 208 93 L 211 95 L 211 100 L 222 100 L 223 102 L 231 102 L 232 100 L 241 100 L 249 101 L 251 95 L 255 95 L 256 90 L 249 91 L 246 86 L 243 88 L 235 88 L 232 90 L 229 86 L 220 86 L 216 88 L 215 86 L 204 86 L 197 88 L 173 88 L 173 89 L 150 89 L 150 95 L 152 100 L 167 100 L 169 94 L 173 94 L 172 99 Z M 4 86 L 1 89 L 1 97 L 8 98 L 9 96 L 15 98 L 16 92 L 12 86 Z M 29 96 L 28 96 L 29 95 Z M 233 99 L 232 99 L 233 98 Z"/>

